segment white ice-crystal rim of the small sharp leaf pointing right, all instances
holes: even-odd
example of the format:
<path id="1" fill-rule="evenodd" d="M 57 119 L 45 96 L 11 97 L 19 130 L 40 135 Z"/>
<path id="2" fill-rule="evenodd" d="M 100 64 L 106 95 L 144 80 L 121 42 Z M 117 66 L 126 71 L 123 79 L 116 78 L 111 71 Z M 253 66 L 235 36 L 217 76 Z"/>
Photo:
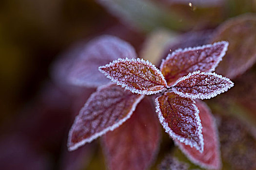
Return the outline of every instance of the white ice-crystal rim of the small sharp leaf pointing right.
<path id="1" fill-rule="evenodd" d="M 223 79 L 225 81 L 227 81 L 230 85 L 228 86 L 225 86 L 224 88 L 222 88 L 221 90 L 217 90 L 215 91 L 214 93 L 211 93 L 209 95 L 207 94 L 197 94 L 197 95 L 191 95 L 190 93 L 182 93 L 182 92 L 179 92 L 177 91 L 175 88 L 175 85 L 177 85 L 179 82 L 183 81 L 183 80 L 186 80 L 188 78 L 190 78 L 191 76 L 195 75 L 195 74 L 200 74 L 200 75 L 213 75 L 213 76 L 216 76 L 217 78 L 220 78 L 220 79 Z M 217 96 L 218 94 L 221 94 L 221 93 L 224 93 L 226 91 L 228 91 L 228 89 L 230 89 L 231 87 L 234 86 L 234 83 L 227 77 L 223 77 L 222 75 L 219 75 L 219 74 L 216 74 L 215 72 L 201 72 L 199 70 L 197 71 L 194 71 L 194 72 L 190 72 L 188 75 L 186 76 L 183 76 L 181 78 L 179 78 L 173 85 L 172 85 L 172 91 L 174 93 L 176 93 L 177 95 L 181 96 L 181 97 L 184 97 L 184 98 L 190 98 L 190 99 L 211 99 L 215 96 Z"/>

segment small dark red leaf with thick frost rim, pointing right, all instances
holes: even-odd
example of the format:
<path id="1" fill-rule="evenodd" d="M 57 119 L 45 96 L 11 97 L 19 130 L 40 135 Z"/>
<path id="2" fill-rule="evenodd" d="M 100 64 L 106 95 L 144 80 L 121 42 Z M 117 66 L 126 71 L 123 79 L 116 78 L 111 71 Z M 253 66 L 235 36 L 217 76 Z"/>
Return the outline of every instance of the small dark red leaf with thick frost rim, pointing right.
<path id="1" fill-rule="evenodd" d="M 228 78 L 216 73 L 194 71 L 177 80 L 172 90 L 181 97 L 210 99 L 233 86 L 234 83 Z"/>

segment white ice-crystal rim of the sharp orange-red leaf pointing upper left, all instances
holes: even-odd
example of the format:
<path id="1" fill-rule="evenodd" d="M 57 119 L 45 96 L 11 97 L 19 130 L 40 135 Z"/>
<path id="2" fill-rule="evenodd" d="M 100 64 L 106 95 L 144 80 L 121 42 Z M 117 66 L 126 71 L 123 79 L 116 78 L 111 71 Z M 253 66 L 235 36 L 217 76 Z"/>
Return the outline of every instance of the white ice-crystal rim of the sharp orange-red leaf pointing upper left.
<path id="1" fill-rule="evenodd" d="M 141 63 L 147 65 L 147 66 L 152 66 L 152 68 L 154 69 L 154 71 L 157 71 L 157 73 L 159 74 L 159 76 L 161 77 L 161 79 L 164 81 L 165 85 L 159 85 L 159 86 L 163 86 L 163 87 L 162 87 L 162 89 L 157 90 L 157 91 L 153 91 L 153 90 L 138 90 L 138 89 L 136 89 L 136 88 L 134 88 L 134 87 L 132 87 L 132 86 L 130 86 L 130 85 L 127 85 L 127 84 L 125 84 L 125 83 L 119 82 L 118 79 L 113 78 L 112 76 L 110 76 L 109 74 L 107 74 L 105 71 L 103 71 L 103 70 L 101 69 L 101 68 L 108 68 L 108 67 L 111 67 L 112 65 L 117 64 L 117 63 L 119 63 L 120 61 L 132 61 L 132 62 L 137 62 L 137 61 L 138 61 L 138 62 L 141 62 Z M 109 79 L 111 80 L 111 82 L 117 83 L 117 85 L 121 85 L 122 88 L 125 88 L 125 89 L 131 91 L 132 93 L 151 95 L 151 94 L 157 94 L 157 93 L 163 91 L 163 90 L 164 90 L 164 87 L 169 87 L 169 86 L 167 85 L 167 82 L 166 82 L 166 80 L 165 80 L 165 78 L 164 78 L 162 72 L 161 72 L 155 65 L 153 65 L 150 61 L 148 61 L 148 60 L 145 61 L 145 60 L 143 60 L 142 58 L 131 58 L 131 59 L 129 59 L 129 58 L 127 58 L 127 57 L 126 57 L 125 59 L 118 58 L 118 60 L 114 60 L 114 61 L 112 61 L 111 63 L 106 64 L 105 66 L 100 66 L 100 67 L 98 67 L 98 70 L 99 70 L 100 72 L 102 72 L 107 78 L 109 78 Z"/>

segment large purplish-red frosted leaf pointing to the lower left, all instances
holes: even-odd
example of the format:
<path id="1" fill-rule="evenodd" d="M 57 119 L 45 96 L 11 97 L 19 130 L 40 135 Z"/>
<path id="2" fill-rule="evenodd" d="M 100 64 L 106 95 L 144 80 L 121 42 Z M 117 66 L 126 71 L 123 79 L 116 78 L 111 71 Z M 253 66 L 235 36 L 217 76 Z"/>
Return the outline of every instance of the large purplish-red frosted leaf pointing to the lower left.
<path id="1" fill-rule="evenodd" d="M 80 110 L 70 129 L 68 149 L 76 150 L 98 136 L 116 129 L 130 118 L 142 98 L 143 95 L 124 91 L 116 84 L 98 87 Z"/>

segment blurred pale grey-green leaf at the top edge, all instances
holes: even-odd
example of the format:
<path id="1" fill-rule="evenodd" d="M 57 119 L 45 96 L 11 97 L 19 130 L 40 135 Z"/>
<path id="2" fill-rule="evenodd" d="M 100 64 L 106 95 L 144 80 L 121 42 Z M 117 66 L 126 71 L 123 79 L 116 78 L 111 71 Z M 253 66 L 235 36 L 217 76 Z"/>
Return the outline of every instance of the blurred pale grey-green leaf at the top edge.
<path id="1" fill-rule="evenodd" d="M 158 27 L 184 29 L 191 27 L 190 20 L 182 18 L 159 2 L 152 0 L 97 0 L 110 13 L 122 22 L 131 24 L 143 31 L 152 31 Z M 184 18 L 185 19 L 185 18 Z"/>

